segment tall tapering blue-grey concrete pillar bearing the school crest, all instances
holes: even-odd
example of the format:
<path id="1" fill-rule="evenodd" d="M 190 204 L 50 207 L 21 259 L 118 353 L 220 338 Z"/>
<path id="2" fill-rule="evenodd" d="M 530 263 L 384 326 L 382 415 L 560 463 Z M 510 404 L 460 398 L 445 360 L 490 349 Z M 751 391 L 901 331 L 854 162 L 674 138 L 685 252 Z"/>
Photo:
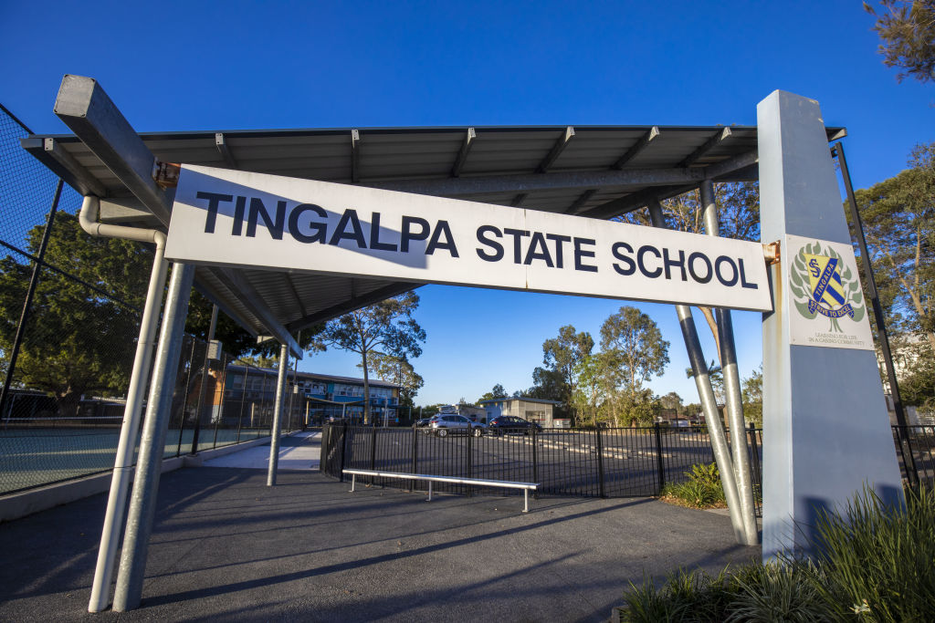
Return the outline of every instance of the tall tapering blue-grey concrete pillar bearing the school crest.
<path id="1" fill-rule="evenodd" d="M 845 290 L 859 291 L 856 266 L 841 269 L 853 249 L 818 103 L 776 91 L 756 112 L 762 240 L 782 245 L 770 267 L 775 311 L 763 316 L 763 558 L 771 559 L 807 554 L 820 513 L 865 484 L 886 503 L 900 503 L 902 489 L 866 309 L 852 300 L 854 318 L 811 312 L 807 298 L 820 290 L 800 270 L 815 259 L 803 255 L 806 239 L 813 254 L 839 255 Z"/>

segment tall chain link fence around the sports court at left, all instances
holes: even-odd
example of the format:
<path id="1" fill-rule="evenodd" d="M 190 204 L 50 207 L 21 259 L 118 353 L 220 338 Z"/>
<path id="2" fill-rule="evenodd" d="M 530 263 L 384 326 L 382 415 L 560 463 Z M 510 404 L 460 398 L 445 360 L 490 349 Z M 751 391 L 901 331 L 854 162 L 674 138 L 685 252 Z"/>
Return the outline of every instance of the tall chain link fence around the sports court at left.
<path id="1" fill-rule="evenodd" d="M 0 495 L 113 468 L 152 264 L 148 246 L 84 233 L 30 134 L 0 105 Z M 276 373 L 206 353 L 186 337 L 166 457 L 270 434 Z M 261 387 L 237 396 L 231 369 Z M 302 423 L 287 411 L 282 428 Z"/>

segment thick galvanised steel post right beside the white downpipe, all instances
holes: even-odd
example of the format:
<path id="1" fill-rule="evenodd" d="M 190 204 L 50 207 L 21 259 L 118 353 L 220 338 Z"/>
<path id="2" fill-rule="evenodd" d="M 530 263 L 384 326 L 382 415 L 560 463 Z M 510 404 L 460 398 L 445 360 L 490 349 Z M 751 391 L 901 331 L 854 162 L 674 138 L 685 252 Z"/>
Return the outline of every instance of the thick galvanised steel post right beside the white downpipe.
<path id="1" fill-rule="evenodd" d="M 192 293 L 194 264 L 176 263 L 172 268 L 165 299 L 163 326 L 153 363 L 146 420 L 139 441 L 137 474 L 130 497 L 126 533 L 123 538 L 120 573 L 114 594 L 114 610 L 124 612 L 139 606 L 146 573 L 146 555 L 150 545 L 152 517 L 156 512 L 159 476 L 165 454 L 165 430 L 171 415 L 172 396 L 179 371 L 179 356 L 184 339 L 185 316 Z"/>

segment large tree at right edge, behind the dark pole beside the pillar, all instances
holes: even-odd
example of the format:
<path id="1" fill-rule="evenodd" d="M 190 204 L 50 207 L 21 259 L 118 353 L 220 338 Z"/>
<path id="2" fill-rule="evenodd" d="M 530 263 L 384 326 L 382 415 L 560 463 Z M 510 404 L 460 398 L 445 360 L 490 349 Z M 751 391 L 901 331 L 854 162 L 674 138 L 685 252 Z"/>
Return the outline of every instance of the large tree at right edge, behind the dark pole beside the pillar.
<path id="1" fill-rule="evenodd" d="M 935 350 L 935 143 L 913 149 L 909 163 L 855 194 L 887 328 L 923 335 Z"/>

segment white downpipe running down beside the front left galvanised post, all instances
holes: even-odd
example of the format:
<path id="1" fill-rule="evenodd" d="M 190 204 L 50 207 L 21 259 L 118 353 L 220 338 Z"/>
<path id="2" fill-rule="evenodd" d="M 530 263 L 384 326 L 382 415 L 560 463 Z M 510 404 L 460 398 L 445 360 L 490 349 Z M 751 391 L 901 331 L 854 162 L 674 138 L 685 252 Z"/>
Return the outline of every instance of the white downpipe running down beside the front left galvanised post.
<path id="1" fill-rule="evenodd" d="M 156 329 L 159 326 L 159 308 L 163 302 L 165 274 L 168 271 L 168 262 L 165 262 L 163 258 L 164 250 L 164 245 L 157 245 L 152 258 L 150 285 L 146 292 L 143 318 L 139 323 L 137 354 L 133 361 L 130 386 L 126 393 L 123 425 L 120 441 L 117 443 L 117 456 L 110 481 L 104 528 L 101 530 L 101 545 L 97 550 L 97 566 L 94 569 L 94 584 L 91 587 L 88 612 L 100 612 L 108 607 L 110 580 L 113 576 L 114 563 L 117 561 L 117 545 L 120 543 L 126 513 L 126 493 L 130 488 L 133 474 L 133 451 L 137 444 L 139 415 L 143 406 L 146 383 L 150 378 L 152 349 L 155 346 Z"/>

